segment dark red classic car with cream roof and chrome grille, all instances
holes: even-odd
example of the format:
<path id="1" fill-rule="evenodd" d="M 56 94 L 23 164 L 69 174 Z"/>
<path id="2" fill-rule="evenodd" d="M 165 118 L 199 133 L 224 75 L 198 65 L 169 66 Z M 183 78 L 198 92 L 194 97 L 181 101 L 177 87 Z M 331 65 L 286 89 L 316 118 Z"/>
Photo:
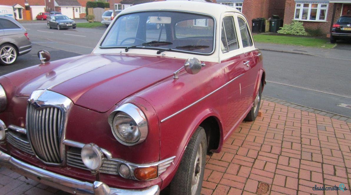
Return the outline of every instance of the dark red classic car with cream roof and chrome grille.
<path id="1" fill-rule="evenodd" d="M 0 77 L 0 165 L 72 194 L 200 194 L 265 85 L 245 16 L 215 3 L 134 5 L 91 54 L 38 57 Z"/>

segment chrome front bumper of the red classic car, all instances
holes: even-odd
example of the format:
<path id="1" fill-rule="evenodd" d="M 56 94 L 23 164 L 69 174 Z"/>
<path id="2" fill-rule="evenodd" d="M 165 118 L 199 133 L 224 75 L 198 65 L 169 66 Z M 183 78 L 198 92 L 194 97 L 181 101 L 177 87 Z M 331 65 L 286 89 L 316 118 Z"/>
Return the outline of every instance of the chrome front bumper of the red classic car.
<path id="1" fill-rule="evenodd" d="M 59 175 L 44 169 L 29 165 L 12 156 L 0 151 L 0 165 L 11 169 L 27 178 L 44 183 L 45 185 L 58 188 L 72 194 L 101 194 L 101 195 L 158 195 L 160 188 L 158 185 L 141 190 L 127 190 L 110 188 L 105 183 L 95 181 L 89 183 Z"/>

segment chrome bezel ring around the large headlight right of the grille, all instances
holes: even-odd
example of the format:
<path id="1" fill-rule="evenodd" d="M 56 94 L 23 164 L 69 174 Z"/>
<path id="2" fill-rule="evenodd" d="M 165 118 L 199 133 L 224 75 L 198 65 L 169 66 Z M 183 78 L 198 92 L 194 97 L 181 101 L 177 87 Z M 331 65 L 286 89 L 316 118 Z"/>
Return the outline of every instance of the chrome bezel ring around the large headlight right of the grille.
<path id="1" fill-rule="evenodd" d="M 119 112 L 123 112 L 124 114 L 129 115 L 137 124 L 140 131 L 140 137 L 136 142 L 125 142 L 124 140 L 120 139 L 117 135 L 118 131 L 117 129 L 115 129 L 113 121 Z M 140 108 L 138 108 L 132 103 L 122 104 L 117 109 L 115 109 L 108 117 L 108 123 L 110 124 L 113 136 L 117 139 L 118 142 L 126 146 L 133 146 L 144 142 L 148 134 L 148 123 L 145 114 Z"/>

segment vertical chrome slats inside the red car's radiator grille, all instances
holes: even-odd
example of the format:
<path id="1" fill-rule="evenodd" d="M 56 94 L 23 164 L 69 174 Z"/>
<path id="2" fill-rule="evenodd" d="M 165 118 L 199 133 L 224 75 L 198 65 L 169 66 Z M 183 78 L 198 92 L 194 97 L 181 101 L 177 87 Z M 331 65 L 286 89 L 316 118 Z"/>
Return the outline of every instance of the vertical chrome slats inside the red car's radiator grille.
<path id="1" fill-rule="evenodd" d="M 27 133 L 34 153 L 46 162 L 60 164 L 60 132 L 62 112 L 56 107 L 36 109 L 31 103 L 27 106 Z"/>

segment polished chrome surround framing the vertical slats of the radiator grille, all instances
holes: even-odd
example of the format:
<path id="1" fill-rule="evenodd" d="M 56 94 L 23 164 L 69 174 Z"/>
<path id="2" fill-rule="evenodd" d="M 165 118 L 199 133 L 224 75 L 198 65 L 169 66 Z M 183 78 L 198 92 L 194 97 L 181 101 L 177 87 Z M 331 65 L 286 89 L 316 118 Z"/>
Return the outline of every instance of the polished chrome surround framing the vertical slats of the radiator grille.
<path id="1" fill-rule="evenodd" d="M 48 91 L 46 89 L 45 90 L 41 89 L 41 90 L 36 90 L 32 92 L 32 94 L 29 96 L 29 99 L 28 99 L 28 105 L 29 104 L 34 105 L 35 107 L 37 107 L 37 109 L 40 109 L 40 108 L 42 109 L 46 107 L 55 107 L 61 110 L 63 114 L 62 121 L 61 121 L 61 129 L 59 129 L 59 135 L 60 135 L 59 152 L 60 152 L 61 163 L 58 164 L 58 163 L 46 162 L 45 160 L 42 160 L 35 153 L 32 142 L 30 141 L 31 140 L 29 135 L 30 133 L 27 133 L 27 138 L 28 138 L 29 144 L 31 145 L 32 151 L 40 161 L 50 166 L 64 166 L 66 164 L 66 151 L 65 151 L 65 146 L 63 144 L 63 141 L 65 140 L 65 135 L 66 135 L 67 116 L 71 111 L 73 102 L 64 95 L 61 95 L 56 92 Z M 28 118 L 26 118 L 26 127 L 28 129 Z"/>

